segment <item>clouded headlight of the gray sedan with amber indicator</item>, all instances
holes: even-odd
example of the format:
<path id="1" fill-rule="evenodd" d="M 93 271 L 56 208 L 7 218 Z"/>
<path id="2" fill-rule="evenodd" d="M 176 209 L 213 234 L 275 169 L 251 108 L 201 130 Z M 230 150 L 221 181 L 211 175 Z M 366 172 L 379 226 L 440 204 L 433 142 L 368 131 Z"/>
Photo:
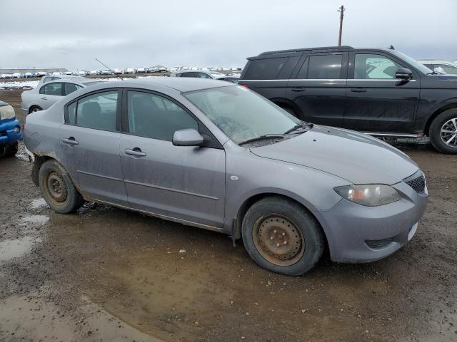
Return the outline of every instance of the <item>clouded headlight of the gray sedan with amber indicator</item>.
<path id="1" fill-rule="evenodd" d="M 397 190 L 383 184 L 348 185 L 335 187 L 333 190 L 351 202 L 368 207 L 393 203 L 401 199 Z"/>

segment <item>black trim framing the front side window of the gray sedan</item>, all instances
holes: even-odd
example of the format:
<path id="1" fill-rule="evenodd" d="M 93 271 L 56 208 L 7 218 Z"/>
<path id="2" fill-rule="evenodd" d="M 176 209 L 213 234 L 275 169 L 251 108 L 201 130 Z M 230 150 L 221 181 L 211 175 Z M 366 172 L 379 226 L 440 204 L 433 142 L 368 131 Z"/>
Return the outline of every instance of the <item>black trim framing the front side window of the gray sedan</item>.
<path id="1" fill-rule="evenodd" d="M 197 127 L 199 128 L 199 133 L 201 135 L 203 135 L 203 137 L 204 137 L 204 142 L 202 145 L 200 145 L 200 147 L 209 147 L 209 148 L 216 148 L 218 150 L 224 150 L 224 147 L 221 145 L 221 142 L 219 142 L 219 140 L 217 140 L 216 137 L 214 137 L 213 133 L 211 133 L 211 130 L 209 130 L 209 128 L 207 128 L 206 125 L 204 125 L 204 123 L 202 123 L 201 120 L 199 120 L 199 118 L 197 118 L 196 115 L 194 115 L 194 113 L 192 113 L 191 110 L 189 110 L 189 108 L 186 108 L 185 105 L 183 105 L 178 100 L 176 100 L 175 98 L 172 98 L 169 95 L 160 93 L 159 91 L 156 91 L 156 90 L 150 90 L 150 89 L 122 88 L 121 134 L 131 135 L 132 137 L 138 137 L 138 138 L 144 138 L 144 139 L 171 142 L 170 140 L 144 137 L 142 135 L 136 135 L 136 134 L 129 132 L 129 110 L 128 110 L 128 98 L 127 98 L 127 93 L 129 91 L 135 91 L 137 93 L 149 93 L 151 95 L 161 96 L 162 98 L 166 98 L 166 100 L 170 100 L 172 103 L 174 103 L 179 108 L 181 108 L 186 113 L 188 113 L 191 116 L 191 118 L 193 118 L 196 121 Z"/>

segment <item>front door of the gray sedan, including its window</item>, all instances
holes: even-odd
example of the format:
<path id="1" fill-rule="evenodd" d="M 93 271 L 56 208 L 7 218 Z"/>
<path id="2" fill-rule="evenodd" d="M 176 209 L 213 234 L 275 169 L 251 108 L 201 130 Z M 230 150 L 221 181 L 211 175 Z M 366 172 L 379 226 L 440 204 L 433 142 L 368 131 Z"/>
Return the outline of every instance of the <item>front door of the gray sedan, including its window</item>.
<path id="1" fill-rule="evenodd" d="M 201 123 L 164 95 L 128 90 L 126 115 L 120 154 L 131 207 L 222 227 L 224 149 L 173 145 L 176 130 L 201 130 Z"/>

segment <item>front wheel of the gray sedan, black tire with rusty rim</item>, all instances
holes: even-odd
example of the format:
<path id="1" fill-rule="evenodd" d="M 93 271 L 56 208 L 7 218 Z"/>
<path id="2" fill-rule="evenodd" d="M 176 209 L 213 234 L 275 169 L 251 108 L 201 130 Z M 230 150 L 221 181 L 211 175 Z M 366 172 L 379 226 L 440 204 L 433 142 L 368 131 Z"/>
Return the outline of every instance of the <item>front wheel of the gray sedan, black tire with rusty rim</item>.
<path id="1" fill-rule="evenodd" d="M 241 234 L 246 251 L 259 266 L 288 276 L 312 269 L 325 244 L 316 219 L 283 197 L 254 203 L 244 215 Z"/>

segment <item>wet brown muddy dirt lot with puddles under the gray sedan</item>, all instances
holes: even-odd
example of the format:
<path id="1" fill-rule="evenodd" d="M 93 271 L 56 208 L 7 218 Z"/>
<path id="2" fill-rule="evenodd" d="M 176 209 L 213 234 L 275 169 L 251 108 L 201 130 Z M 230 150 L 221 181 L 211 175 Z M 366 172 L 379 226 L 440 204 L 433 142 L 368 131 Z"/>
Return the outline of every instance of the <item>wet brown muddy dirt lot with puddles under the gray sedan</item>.
<path id="1" fill-rule="evenodd" d="M 0 99 L 24 120 L 20 93 Z M 457 156 L 396 145 L 428 178 L 416 237 L 301 277 L 216 232 L 96 204 L 55 214 L 21 146 L 0 160 L 0 341 L 457 341 Z"/>

